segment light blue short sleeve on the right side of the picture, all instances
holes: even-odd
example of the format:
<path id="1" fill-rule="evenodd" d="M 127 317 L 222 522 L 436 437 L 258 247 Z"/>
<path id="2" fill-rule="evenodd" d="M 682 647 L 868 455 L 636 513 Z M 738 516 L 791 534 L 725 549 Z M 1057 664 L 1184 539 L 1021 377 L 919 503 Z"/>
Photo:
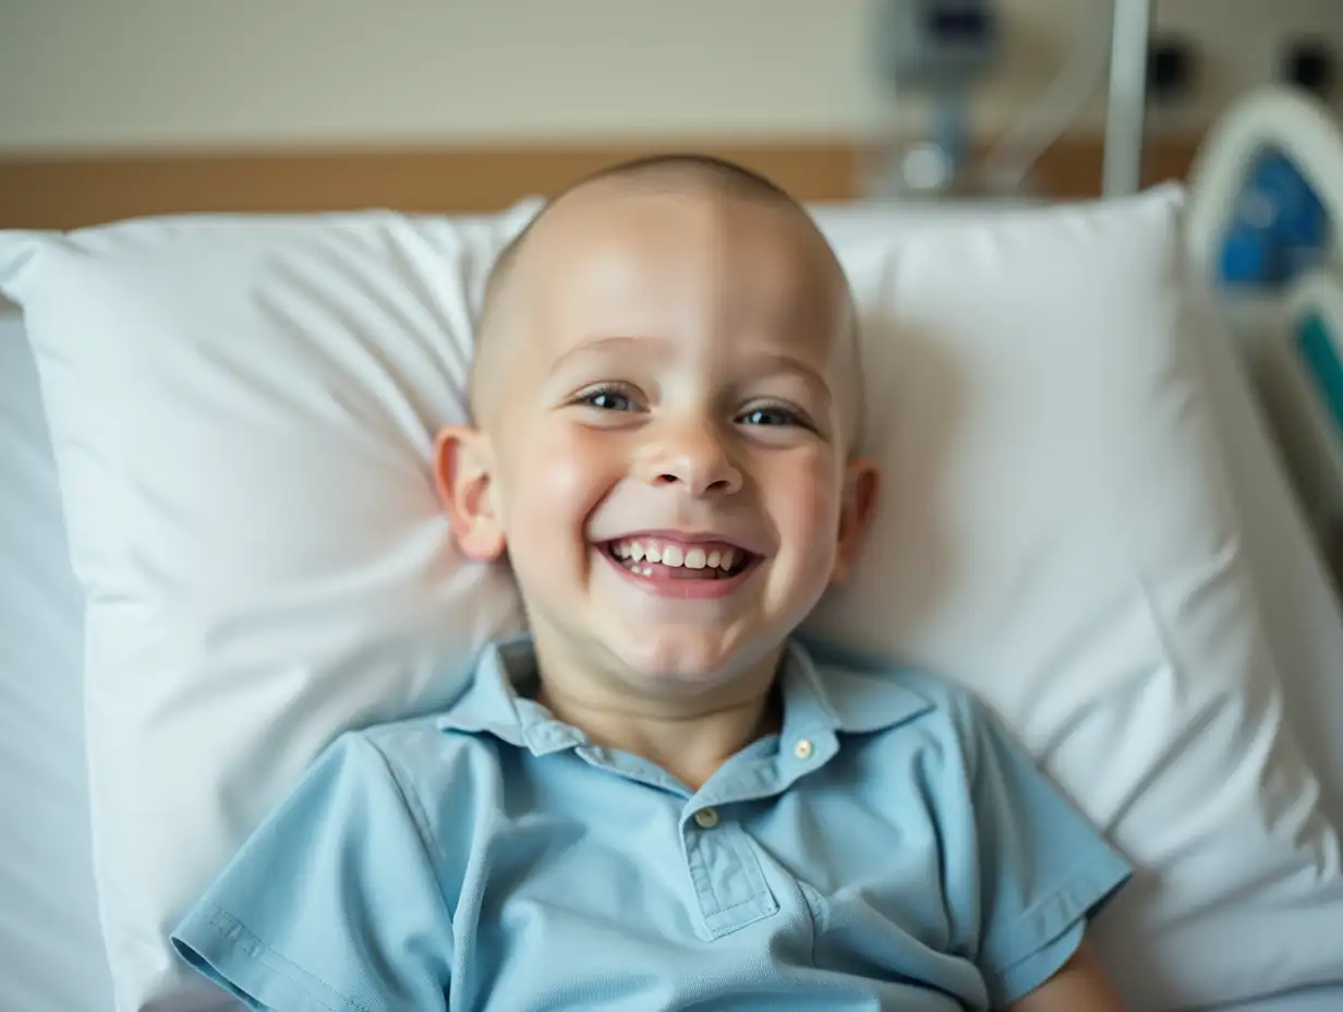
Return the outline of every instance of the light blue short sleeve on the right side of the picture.
<path id="1" fill-rule="evenodd" d="M 1002 1007 L 1058 972 L 1131 868 L 991 716 L 970 723 L 978 964 Z"/>

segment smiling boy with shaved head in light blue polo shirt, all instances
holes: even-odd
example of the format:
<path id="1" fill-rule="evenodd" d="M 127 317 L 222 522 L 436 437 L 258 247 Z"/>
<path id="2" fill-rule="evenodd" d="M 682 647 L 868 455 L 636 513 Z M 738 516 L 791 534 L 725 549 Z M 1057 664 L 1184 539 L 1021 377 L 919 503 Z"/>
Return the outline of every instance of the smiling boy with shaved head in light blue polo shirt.
<path id="1" fill-rule="evenodd" d="M 1117 1009 L 1084 930 L 1124 863 L 963 695 L 792 638 L 876 503 L 854 329 L 740 168 L 551 202 L 436 454 L 529 634 L 333 745 L 183 957 L 281 1012 Z"/>

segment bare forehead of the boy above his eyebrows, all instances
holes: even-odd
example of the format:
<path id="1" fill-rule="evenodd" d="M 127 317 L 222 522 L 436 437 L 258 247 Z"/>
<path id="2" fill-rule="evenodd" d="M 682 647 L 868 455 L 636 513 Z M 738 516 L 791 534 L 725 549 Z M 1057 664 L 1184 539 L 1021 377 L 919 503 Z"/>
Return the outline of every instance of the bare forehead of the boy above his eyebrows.
<path id="1" fill-rule="evenodd" d="M 719 353 L 770 345 L 822 364 L 843 325 L 834 257 L 787 204 L 604 187 L 567 198 L 530 241 L 516 278 L 529 343 L 555 353 L 630 336 Z"/>

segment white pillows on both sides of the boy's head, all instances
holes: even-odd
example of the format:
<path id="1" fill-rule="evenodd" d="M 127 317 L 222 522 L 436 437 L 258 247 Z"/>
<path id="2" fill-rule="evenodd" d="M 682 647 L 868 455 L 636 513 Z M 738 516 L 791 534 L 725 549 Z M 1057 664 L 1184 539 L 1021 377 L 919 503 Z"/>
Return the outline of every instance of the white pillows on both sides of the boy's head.
<path id="1" fill-rule="evenodd" d="M 1178 206 L 845 234 L 890 501 L 814 622 L 968 681 L 1143 866 L 1103 941 L 1150 1009 L 1343 978 L 1336 840 L 1178 340 Z M 435 706 L 517 624 L 427 458 L 529 212 L 0 237 L 90 599 L 122 1008 L 203 1007 L 165 945 L 185 904 L 338 730 Z"/>

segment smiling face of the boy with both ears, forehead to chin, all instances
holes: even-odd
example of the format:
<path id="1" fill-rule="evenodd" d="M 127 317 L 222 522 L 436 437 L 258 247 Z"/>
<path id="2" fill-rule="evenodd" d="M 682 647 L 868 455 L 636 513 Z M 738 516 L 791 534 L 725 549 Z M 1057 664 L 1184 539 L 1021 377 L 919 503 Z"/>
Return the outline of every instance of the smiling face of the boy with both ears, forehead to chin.
<path id="1" fill-rule="evenodd" d="M 510 270 L 442 485 L 466 550 L 508 551 L 543 675 L 663 699 L 772 676 L 874 491 L 829 247 L 780 202 L 606 181 Z"/>

